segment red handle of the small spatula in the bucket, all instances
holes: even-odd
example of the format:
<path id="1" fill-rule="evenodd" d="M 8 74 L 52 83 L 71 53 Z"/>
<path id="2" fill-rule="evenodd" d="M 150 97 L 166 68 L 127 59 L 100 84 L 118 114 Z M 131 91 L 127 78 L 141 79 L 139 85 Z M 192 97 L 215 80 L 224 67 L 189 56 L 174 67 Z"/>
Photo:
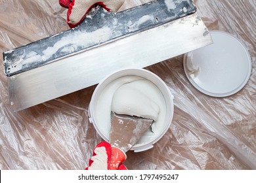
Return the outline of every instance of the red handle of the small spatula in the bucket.
<path id="1" fill-rule="evenodd" d="M 117 170 L 126 159 L 126 154 L 119 148 L 112 146 L 110 158 L 110 170 Z"/>

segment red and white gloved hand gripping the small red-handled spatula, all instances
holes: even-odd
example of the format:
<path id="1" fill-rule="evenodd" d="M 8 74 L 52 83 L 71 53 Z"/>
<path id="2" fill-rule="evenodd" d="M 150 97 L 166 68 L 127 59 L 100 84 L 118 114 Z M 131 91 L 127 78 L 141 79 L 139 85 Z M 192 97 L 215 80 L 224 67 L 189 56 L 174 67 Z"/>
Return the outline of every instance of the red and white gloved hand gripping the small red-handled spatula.
<path id="1" fill-rule="evenodd" d="M 100 142 L 96 145 L 95 149 L 93 150 L 93 157 L 89 160 L 89 167 L 85 170 L 110 170 L 110 169 L 117 169 L 117 170 L 127 170 L 125 165 L 122 163 L 115 167 L 113 165 L 113 160 L 116 159 L 115 153 L 113 153 L 113 148 L 111 147 L 110 143 L 108 142 Z M 126 156 L 123 157 L 123 161 L 125 160 Z"/>

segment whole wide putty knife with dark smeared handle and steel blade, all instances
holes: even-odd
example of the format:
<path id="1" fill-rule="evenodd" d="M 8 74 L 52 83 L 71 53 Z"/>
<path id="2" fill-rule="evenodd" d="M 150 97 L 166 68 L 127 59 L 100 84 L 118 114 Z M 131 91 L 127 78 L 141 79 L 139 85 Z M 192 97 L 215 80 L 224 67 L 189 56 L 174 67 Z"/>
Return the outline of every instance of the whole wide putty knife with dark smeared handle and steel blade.
<path id="1" fill-rule="evenodd" d="M 98 84 L 212 42 L 192 0 L 158 0 L 121 12 L 97 7 L 73 29 L 3 53 L 14 111 Z"/>

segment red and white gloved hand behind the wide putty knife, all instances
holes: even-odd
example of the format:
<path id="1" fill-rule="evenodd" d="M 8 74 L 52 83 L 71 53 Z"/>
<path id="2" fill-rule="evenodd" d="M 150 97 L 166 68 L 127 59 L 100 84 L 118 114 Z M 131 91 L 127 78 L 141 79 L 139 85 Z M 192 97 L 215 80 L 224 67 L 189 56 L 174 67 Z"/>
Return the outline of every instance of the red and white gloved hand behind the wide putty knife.
<path id="1" fill-rule="evenodd" d="M 117 12 L 125 0 L 59 0 L 60 6 L 68 8 L 67 22 L 72 28 L 80 24 L 93 5 L 102 5 L 106 10 Z"/>

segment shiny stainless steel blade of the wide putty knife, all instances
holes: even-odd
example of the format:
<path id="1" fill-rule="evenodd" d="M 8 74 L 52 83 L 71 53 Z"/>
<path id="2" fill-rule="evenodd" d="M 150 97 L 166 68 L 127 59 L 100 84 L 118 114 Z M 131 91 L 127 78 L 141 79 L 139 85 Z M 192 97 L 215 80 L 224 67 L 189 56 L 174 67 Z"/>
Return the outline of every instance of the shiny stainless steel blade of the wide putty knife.
<path id="1" fill-rule="evenodd" d="M 143 68 L 211 44 L 197 13 L 10 76 L 14 111 L 98 84 L 119 69 Z"/>

